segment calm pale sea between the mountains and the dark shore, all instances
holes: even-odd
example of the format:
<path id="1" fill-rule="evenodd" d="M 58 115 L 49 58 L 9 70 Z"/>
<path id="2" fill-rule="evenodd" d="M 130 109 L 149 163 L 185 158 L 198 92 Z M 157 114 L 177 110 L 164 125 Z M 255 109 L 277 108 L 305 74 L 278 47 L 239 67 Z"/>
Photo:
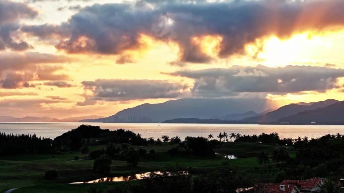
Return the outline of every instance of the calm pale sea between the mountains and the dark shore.
<path id="1" fill-rule="evenodd" d="M 161 124 L 161 123 L 0 123 L 0 132 L 33 134 L 55 138 L 62 133 L 77 128 L 80 124 L 99 125 L 102 129 L 126 129 L 140 133 L 143 137 L 158 138 L 161 135 L 208 136 L 219 132 L 260 134 L 277 132 L 281 137 L 298 136 L 316 138 L 327 133 L 344 134 L 344 125 L 256 125 L 256 124 Z"/>

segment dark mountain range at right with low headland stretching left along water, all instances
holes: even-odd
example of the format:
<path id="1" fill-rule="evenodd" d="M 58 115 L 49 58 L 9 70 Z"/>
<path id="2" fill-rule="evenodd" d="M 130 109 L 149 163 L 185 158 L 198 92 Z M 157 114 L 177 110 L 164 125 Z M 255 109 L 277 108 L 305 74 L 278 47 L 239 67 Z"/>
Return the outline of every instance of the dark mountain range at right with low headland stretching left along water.
<path id="1" fill-rule="evenodd" d="M 344 124 L 344 117 L 341 114 L 343 111 L 344 101 L 329 99 L 320 102 L 289 104 L 242 120 L 176 118 L 162 123 Z M 224 117 L 234 119 L 249 114 L 255 114 L 255 112 L 248 111 Z"/>

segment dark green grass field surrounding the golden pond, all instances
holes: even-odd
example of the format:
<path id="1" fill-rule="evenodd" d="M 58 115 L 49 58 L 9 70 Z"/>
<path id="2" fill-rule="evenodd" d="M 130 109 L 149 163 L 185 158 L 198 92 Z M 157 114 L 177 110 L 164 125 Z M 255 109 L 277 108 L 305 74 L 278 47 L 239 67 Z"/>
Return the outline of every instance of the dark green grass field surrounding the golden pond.
<path id="1" fill-rule="evenodd" d="M 91 150 L 101 149 L 105 146 L 92 146 Z M 137 146 L 134 146 L 138 148 Z M 154 156 L 145 156 L 141 159 L 137 167 L 129 166 L 126 161 L 113 160 L 111 172 L 107 176 L 123 176 L 134 173 L 142 173 L 147 171 L 158 171 L 167 165 L 179 164 L 185 167 L 193 168 L 212 168 L 228 161 L 230 164 L 238 165 L 244 170 L 252 174 L 260 174 L 257 170 L 256 155 L 262 150 L 272 152 L 274 149 L 280 148 L 277 145 L 263 145 L 248 142 L 227 142 L 222 143 L 215 149 L 218 153 L 235 154 L 238 159 L 226 159 L 222 156 L 198 157 L 187 152 L 179 152 L 173 156 L 167 153 L 171 145 L 154 145 L 143 147 L 147 151 L 155 150 Z M 295 153 L 289 151 L 291 156 Z M 54 155 L 18 155 L 10 157 L 2 157 L 0 160 L 0 192 L 14 187 L 21 187 L 13 192 L 86 192 L 90 185 L 96 185 L 106 190 L 111 186 L 120 185 L 127 182 L 103 182 L 97 184 L 68 184 L 76 181 L 93 180 L 105 177 L 97 174 L 93 170 L 94 160 L 76 160 L 74 156 L 83 158 L 80 152 L 60 153 Z M 242 157 L 242 158 L 241 158 Z M 56 169 L 59 176 L 55 180 L 44 179 L 46 170 Z"/>

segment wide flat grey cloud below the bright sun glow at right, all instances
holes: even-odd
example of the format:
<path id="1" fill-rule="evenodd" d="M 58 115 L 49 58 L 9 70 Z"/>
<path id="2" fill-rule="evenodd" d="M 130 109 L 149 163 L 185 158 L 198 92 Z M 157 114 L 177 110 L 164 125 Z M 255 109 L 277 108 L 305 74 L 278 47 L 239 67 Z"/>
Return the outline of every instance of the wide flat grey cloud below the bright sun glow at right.
<path id="1" fill-rule="evenodd" d="M 228 69 L 205 69 L 169 73 L 194 79 L 195 96 L 228 96 L 242 92 L 297 93 L 301 91 L 323 92 L 336 88 L 337 78 L 344 77 L 344 69 L 312 66 L 265 66 Z"/>

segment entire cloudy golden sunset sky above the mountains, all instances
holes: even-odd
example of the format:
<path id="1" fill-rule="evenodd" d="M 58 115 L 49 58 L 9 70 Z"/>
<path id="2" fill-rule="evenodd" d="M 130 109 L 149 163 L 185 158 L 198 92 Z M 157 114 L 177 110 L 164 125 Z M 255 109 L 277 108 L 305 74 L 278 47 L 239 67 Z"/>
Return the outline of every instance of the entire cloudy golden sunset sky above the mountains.
<path id="1" fill-rule="evenodd" d="M 0 115 L 344 100 L 341 0 L 0 0 Z"/>

